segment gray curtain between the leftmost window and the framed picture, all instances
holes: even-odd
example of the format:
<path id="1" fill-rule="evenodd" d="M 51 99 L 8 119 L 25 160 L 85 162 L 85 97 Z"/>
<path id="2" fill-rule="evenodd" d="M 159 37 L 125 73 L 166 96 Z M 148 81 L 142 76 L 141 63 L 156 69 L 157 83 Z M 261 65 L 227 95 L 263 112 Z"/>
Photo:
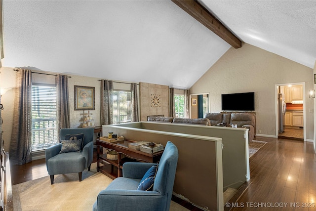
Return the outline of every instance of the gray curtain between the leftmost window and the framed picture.
<path id="1" fill-rule="evenodd" d="M 57 118 L 58 128 L 70 128 L 70 111 L 69 111 L 69 90 L 68 76 L 58 74 L 56 77 L 57 85 Z M 57 133 L 59 136 L 59 132 Z M 59 138 L 58 138 L 59 140 Z"/>

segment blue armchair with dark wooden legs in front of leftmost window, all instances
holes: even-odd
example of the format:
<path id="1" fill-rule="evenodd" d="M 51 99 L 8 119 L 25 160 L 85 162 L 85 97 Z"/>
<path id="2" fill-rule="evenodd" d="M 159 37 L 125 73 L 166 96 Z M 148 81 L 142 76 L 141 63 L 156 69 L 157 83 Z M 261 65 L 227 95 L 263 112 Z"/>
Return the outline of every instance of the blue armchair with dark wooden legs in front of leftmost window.
<path id="1" fill-rule="evenodd" d="M 45 150 L 46 167 L 50 175 L 50 183 L 54 184 L 55 174 L 79 173 L 79 181 L 82 178 L 84 169 L 90 170 L 93 159 L 93 135 L 94 128 L 67 128 L 60 130 L 60 140 L 64 140 L 66 135 L 84 134 L 82 140 L 82 151 L 59 153 L 62 144 L 53 145 Z"/>

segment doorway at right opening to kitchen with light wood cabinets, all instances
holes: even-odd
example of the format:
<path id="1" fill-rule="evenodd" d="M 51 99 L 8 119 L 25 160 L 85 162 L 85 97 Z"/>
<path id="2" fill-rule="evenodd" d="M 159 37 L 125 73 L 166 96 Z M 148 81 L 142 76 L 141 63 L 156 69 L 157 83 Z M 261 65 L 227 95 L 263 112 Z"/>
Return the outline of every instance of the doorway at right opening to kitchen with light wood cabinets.
<path id="1" fill-rule="evenodd" d="M 304 140 L 305 83 L 276 85 L 276 137 Z"/>

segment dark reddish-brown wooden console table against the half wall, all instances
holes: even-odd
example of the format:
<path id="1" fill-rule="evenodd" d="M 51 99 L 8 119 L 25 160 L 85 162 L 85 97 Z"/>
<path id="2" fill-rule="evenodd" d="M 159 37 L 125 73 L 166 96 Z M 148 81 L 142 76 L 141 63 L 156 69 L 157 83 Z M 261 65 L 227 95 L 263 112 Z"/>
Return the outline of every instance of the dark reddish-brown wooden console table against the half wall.
<path id="1" fill-rule="evenodd" d="M 115 179 L 119 176 L 122 176 L 121 170 L 125 162 L 159 162 L 163 151 L 159 151 L 154 154 L 149 154 L 142 152 L 140 150 L 133 150 L 128 148 L 128 144 L 132 142 L 134 141 L 124 140 L 110 143 L 107 141 L 97 139 L 97 171 L 101 171 L 110 178 Z M 100 151 L 102 150 L 101 147 L 117 151 L 118 160 L 109 160 L 107 159 L 106 154 L 100 154 Z M 104 166 L 100 167 L 100 162 L 102 161 L 106 161 L 106 163 L 102 163 L 104 164 Z"/>

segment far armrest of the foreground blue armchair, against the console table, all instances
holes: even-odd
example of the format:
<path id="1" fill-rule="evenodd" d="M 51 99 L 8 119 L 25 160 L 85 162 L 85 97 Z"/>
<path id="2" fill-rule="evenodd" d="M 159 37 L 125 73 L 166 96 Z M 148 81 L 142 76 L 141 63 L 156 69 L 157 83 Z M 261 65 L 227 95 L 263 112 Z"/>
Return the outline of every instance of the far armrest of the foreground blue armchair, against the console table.
<path id="1" fill-rule="evenodd" d="M 153 163 L 135 163 L 127 162 L 123 164 L 123 177 L 142 179 L 144 174 L 152 166 L 157 165 Z"/>

